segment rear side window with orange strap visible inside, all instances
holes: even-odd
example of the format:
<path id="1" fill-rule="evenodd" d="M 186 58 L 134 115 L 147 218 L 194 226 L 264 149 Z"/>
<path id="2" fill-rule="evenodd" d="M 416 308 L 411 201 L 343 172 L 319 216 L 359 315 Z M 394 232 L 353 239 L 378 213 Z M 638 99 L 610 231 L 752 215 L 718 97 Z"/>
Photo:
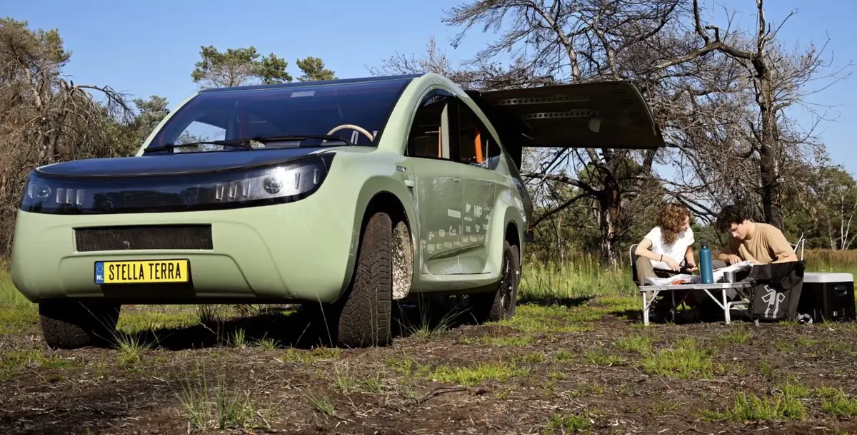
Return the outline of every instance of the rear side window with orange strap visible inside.
<path id="1" fill-rule="evenodd" d="M 494 135 L 464 101 L 458 100 L 458 162 L 494 170 L 500 146 Z"/>

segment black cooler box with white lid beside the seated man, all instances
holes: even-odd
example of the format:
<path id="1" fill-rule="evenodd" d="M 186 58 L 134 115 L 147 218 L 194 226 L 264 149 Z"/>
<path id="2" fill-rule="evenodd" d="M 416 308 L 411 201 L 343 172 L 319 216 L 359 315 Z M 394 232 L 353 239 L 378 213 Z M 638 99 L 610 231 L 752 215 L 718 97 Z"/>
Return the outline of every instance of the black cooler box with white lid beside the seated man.
<path id="1" fill-rule="evenodd" d="M 812 322 L 854 320 L 854 276 L 839 272 L 806 272 L 798 313 Z"/>

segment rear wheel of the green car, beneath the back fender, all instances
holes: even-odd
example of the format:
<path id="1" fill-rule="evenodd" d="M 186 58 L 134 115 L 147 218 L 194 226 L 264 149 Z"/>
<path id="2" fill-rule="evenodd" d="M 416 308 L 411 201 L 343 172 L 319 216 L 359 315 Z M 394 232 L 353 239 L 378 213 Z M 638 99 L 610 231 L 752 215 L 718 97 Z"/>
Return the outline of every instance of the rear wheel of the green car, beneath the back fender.
<path id="1" fill-rule="evenodd" d="M 503 262 L 500 284 L 494 291 L 470 295 L 470 311 L 476 322 L 512 319 L 518 299 L 520 254 L 518 247 L 503 242 Z"/>

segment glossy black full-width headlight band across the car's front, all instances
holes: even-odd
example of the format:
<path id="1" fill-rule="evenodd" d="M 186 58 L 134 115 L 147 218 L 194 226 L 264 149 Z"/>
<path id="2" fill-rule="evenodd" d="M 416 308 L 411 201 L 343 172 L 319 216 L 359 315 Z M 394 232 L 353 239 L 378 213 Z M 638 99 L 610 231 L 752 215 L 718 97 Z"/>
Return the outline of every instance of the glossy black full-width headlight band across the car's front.
<path id="1" fill-rule="evenodd" d="M 301 200 L 327 177 L 333 153 L 250 169 L 181 176 L 48 176 L 34 170 L 21 210 L 51 214 L 193 212 Z"/>

